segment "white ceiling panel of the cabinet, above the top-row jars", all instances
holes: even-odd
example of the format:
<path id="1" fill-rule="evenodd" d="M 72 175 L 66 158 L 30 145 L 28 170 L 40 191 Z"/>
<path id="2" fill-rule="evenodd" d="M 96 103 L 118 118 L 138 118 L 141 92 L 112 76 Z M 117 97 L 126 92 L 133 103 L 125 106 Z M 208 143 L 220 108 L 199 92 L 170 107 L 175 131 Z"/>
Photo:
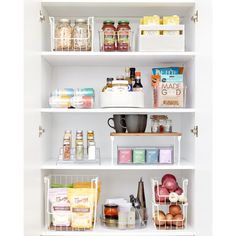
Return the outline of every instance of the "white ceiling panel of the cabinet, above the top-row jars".
<path id="1" fill-rule="evenodd" d="M 184 16 L 195 6 L 195 0 L 41 0 L 41 3 L 51 16 L 95 17 L 140 17 L 157 13 Z"/>

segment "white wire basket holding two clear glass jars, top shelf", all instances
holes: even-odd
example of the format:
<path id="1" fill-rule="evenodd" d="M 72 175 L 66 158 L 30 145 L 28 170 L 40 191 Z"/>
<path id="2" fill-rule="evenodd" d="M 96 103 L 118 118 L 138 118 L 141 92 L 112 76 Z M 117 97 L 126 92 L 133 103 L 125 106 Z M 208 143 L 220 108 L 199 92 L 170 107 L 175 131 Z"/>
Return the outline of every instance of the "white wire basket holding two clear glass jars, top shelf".
<path id="1" fill-rule="evenodd" d="M 66 26 L 60 27 L 60 21 Z M 79 19 L 83 20 L 83 19 Z M 94 17 L 88 17 L 84 28 L 76 28 L 76 18 L 49 17 L 51 51 L 93 51 Z M 77 30 L 76 30 L 77 29 Z"/>

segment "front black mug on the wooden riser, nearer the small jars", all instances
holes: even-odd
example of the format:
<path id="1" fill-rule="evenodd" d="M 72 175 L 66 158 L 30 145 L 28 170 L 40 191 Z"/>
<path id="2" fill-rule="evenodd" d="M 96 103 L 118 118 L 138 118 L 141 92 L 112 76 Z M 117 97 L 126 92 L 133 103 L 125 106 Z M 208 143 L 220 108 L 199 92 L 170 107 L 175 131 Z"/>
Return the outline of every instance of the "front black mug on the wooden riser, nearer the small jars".
<path id="1" fill-rule="evenodd" d="M 127 128 L 128 133 L 144 133 L 147 126 L 147 115 L 129 114 L 125 115 L 121 121 L 125 121 L 123 128 Z"/>

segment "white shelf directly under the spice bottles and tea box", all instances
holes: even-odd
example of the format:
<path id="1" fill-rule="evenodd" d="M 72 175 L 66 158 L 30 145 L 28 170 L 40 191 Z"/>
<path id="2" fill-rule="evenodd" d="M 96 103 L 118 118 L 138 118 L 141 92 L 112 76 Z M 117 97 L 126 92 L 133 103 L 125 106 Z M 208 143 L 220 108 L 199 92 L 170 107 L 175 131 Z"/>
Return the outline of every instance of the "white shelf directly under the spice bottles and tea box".
<path id="1" fill-rule="evenodd" d="M 111 160 L 102 160 L 102 165 L 95 164 L 60 164 L 55 160 L 45 162 L 42 170 L 194 170 L 194 165 L 182 160 L 180 165 L 111 165 Z"/>

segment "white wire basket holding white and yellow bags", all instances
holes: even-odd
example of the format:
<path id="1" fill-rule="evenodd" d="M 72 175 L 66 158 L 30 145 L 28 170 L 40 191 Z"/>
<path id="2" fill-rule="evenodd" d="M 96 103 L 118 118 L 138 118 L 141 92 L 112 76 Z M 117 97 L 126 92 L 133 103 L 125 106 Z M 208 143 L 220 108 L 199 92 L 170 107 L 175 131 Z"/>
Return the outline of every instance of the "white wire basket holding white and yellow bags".
<path id="1" fill-rule="evenodd" d="M 92 230 L 101 185 L 97 176 L 50 175 L 45 182 L 45 223 L 49 230 Z"/>

